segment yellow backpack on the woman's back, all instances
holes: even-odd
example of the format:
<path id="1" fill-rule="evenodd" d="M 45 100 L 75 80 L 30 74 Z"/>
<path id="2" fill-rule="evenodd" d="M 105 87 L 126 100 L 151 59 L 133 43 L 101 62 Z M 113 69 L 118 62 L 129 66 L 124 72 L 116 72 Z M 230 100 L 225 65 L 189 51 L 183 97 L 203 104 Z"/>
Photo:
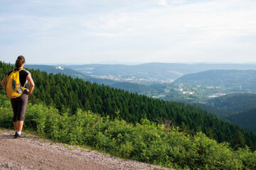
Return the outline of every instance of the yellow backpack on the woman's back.
<path id="1" fill-rule="evenodd" d="M 19 69 L 18 71 L 11 72 L 6 81 L 6 94 L 8 98 L 17 98 L 23 94 L 25 88 L 21 86 L 21 82 L 19 80 L 19 72 L 23 69 Z"/>

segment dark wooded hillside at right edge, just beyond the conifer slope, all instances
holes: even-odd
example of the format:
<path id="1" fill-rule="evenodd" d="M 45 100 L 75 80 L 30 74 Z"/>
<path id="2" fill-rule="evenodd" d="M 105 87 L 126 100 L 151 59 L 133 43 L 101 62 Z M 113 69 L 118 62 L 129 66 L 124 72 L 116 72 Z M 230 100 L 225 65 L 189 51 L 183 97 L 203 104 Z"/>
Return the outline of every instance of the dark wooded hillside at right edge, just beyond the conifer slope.
<path id="1" fill-rule="evenodd" d="M 194 103 L 208 113 L 214 113 L 230 123 L 256 132 L 256 94 L 228 94 L 211 98 L 206 104 Z"/>

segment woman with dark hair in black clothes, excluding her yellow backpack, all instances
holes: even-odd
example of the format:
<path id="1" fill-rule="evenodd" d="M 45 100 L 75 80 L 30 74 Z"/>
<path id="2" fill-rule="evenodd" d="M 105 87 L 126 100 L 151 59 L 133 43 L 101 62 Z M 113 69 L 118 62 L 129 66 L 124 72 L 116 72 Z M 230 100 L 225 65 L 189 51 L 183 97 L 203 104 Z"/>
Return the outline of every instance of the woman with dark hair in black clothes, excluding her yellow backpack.
<path id="1" fill-rule="evenodd" d="M 18 56 L 15 63 L 16 68 L 14 69 L 14 71 L 23 69 L 24 64 L 25 64 L 25 58 L 22 55 Z M 9 72 L 9 74 L 4 78 L 4 80 L 1 81 L 1 85 L 4 87 L 4 89 L 6 89 L 6 81 L 9 75 L 11 74 L 11 72 Z M 35 84 L 33 83 L 31 73 L 28 72 L 26 69 L 23 69 L 21 70 L 21 72 L 19 72 L 19 80 L 21 82 L 21 86 L 23 86 L 25 90 L 23 91 L 23 94 L 21 94 L 21 96 L 19 96 L 18 98 L 11 99 L 11 106 L 14 111 L 13 123 L 16 129 L 15 137 L 26 137 L 26 135 L 24 135 L 21 131 L 23 128 L 23 122 L 25 120 L 25 112 L 28 104 L 28 95 L 32 94 Z M 28 83 L 29 83 L 29 89 L 28 89 Z"/>

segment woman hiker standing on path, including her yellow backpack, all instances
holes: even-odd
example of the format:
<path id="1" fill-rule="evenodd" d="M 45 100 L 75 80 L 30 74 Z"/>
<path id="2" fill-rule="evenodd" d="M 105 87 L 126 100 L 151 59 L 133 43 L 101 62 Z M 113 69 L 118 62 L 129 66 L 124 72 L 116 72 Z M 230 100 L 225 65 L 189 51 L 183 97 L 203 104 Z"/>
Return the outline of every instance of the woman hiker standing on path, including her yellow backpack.
<path id="1" fill-rule="evenodd" d="M 13 123 L 16 129 L 15 137 L 26 137 L 21 131 L 28 105 L 28 95 L 32 94 L 35 86 L 31 73 L 23 69 L 24 65 L 25 58 L 22 55 L 18 56 L 15 63 L 16 68 L 9 72 L 3 81 L 1 81 L 1 85 L 6 89 L 7 96 L 11 98 L 11 106 L 14 111 Z"/>

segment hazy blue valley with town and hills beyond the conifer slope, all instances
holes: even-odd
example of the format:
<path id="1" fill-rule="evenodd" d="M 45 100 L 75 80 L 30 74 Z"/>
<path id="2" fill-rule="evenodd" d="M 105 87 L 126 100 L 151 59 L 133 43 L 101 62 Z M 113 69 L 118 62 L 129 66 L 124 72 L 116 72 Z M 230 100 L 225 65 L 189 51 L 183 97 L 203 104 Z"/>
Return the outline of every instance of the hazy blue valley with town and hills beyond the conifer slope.
<path id="1" fill-rule="evenodd" d="M 250 100 L 253 94 L 256 95 L 256 64 L 57 64 L 55 66 L 28 65 L 27 67 L 53 74 L 67 74 L 85 81 L 144 94 L 151 98 L 192 103 L 255 132 L 252 128 L 254 120 L 252 125 L 238 123 L 232 114 L 249 110 L 252 112 L 252 109 L 256 108 L 254 101 L 249 102 L 250 108 L 245 107 L 247 104 L 245 101 Z M 212 104 L 212 101 L 220 96 L 228 94 L 244 96 L 250 93 L 252 95 L 247 96 L 245 101 L 239 101 L 240 110 L 238 111 L 227 112 L 230 106 L 224 101 L 220 102 L 223 103 L 223 108 Z"/>

